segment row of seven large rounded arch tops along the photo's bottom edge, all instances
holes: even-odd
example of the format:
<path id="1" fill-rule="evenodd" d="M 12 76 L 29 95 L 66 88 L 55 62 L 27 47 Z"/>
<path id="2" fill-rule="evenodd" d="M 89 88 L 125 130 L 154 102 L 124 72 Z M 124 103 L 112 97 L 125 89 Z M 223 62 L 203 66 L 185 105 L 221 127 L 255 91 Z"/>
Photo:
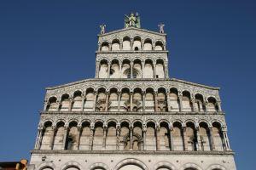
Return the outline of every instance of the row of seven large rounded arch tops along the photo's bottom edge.
<path id="1" fill-rule="evenodd" d="M 56 169 L 55 164 L 52 162 L 45 162 L 40 165 L 38 168 L 39 170 L 53 170 Z M 61 167 L 63 170 L 82 170 L 82 166 L 76 162 L 71 161 L 67 162 L 64 166 Z M 90 170 L 109 170 L 110 168 L 108 165 L 102 162 L 96 162 L 90 165 Z M 195 164 L 195 163 L 185 163 L 182 167 L 177 168 L 169 161 L 160 161 L 154 165 L 152 168 L 148 168 L 147 165 L 138 159 L 128 158 L 119 163 L 113 168 L 113 170 L 127 170 L 127 169 L 134 169 L 134 170 L 148 170 L 148 169 L 155 169 L 155 170 L 202 170 L 202 168 Z M 226 170 L 222 165 L 219 164 L 212 164 L 207 167 L 206 170 Z"/>

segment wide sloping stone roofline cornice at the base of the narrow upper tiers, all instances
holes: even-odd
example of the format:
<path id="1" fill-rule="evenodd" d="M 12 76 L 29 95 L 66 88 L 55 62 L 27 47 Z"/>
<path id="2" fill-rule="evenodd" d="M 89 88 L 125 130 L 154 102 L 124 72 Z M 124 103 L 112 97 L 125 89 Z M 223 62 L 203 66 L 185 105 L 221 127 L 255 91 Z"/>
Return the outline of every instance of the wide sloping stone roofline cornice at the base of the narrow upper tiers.
<path id="1" fill-rule="evenodd" d="M 186 83 L 186 84 L 189 84 L 189 85 L 194 85 L 194 86 L 197 86 L 197 87 L 201 87 L 201 88 L 208 88 L 208 89 L 212 89 L 212 90 L 219 90 L 220 88 L 216 88 L 216 87 L 211 87 L 211 86 L 207 86 L 207 85 L 203 85 L 203 84 L 199 84 L 199 83 L 195 83 L 195 82 L 187 82 L 187 81 L 184 81 L 184 80 L 180 80 L 180 79 L 177 79 L 177 78 L 159 78 L 159 79 L 154 79 L 154 78 L 132 78 L 132 79 L 128 79 L 128 78 L 114 78 L 114 79 L 110 79 L 110 78 L 89 78 L 89 79 L 84 79 L 84 80 L 80 80 L 80 81 L 77 81 L 77 82 L 69 82 L 67 84 L 62 84 L 62 85 L 59 85 L 59 86 L 55 86 L 55 87 L 49 87 L 49 88 L 45 88 L 46 90 L 54 90 L 56 88 L 65 88 L 65 87 L 68 87 L 68 86 L 72 86 L 72 85 L 76 85 L 76 84 L 80 84 L 80 83 L 83 83 L 83 82 L 115 82 L 115 81 L 123 81 L 123 82 L 126 82 L 126 81 L 134 81 L 134 82 L 137 82 L 137 81 L 154 81 L 154 82 L 162 82 L 162 81 L 172 81 L 172 82 L 182 82 L 182 83 Z"/>

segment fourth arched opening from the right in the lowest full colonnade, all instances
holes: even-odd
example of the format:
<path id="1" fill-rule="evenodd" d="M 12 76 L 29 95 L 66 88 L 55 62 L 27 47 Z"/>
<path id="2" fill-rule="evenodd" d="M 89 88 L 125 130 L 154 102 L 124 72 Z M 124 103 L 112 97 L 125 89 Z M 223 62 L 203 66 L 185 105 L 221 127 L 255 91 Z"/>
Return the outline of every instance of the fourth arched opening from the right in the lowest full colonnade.
<path id="1" fill-rule="evenodd" d="M 172 138 L 174 147 L 173 150 L 184 150 L 183 130 L 180 122 L 173 123 Z"/>

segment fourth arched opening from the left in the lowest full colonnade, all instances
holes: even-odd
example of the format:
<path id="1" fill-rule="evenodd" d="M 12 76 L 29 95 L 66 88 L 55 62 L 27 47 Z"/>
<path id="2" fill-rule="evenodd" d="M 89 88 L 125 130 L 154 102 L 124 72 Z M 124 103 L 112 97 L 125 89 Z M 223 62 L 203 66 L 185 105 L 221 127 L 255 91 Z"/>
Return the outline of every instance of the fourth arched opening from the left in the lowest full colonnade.
<path id="1" fill-rule="evenodd" d="M 90 122 L 82 123 L 82 132 L 79 142 L 79 150 L 90 150 Z"/>

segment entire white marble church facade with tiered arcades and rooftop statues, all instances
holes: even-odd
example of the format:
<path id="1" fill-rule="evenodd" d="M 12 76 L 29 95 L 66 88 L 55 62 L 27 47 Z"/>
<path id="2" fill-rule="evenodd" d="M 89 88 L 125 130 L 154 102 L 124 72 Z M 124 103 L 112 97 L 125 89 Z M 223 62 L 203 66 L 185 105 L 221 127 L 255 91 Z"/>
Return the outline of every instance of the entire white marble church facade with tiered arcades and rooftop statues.
<path id="1" fill-rule="evenodd" d="M 219 88 L 169 78 L 163 26 L 101 26 L 96 77 L 46 89 L 28 169 L 236 170 Z"/>

